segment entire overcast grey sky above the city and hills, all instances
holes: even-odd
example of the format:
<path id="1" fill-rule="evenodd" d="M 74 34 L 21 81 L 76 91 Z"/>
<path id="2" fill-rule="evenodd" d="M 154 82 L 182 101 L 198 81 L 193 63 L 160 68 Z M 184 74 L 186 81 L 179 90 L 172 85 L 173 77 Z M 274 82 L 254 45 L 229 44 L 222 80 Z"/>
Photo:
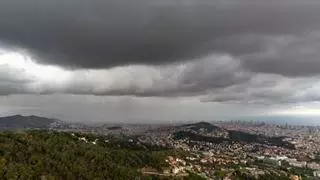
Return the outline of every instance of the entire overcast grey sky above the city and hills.
<path id="1" fill-rule="evenodd" d="M 319 116 L 319 17 L 318 0 L 1 0 L 0 115 Z"/>

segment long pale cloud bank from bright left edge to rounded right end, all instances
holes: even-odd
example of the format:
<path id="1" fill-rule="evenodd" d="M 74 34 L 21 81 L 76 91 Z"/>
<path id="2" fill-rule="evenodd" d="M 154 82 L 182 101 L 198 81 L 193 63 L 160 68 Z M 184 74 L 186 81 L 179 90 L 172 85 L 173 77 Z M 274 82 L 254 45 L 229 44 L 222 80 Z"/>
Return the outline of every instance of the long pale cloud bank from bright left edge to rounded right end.
<path id="1" fill-rule="evenodd" d="M 29 77 L 28 81 L 16 83 L 22 93 L 198 96 L 206 94 L 212 89 L 246 82 L 251 78 L 250 73 L 245 72 L 237 60 L 224 55 L 213 55 L 196 62 L 161 67 L 131 65 L 108 70 L 56 70 L 55 72 L 45 69 L 39 73 L 35 73 L 34 69 L 41 69 L 41 65 L 36 65 L 30 60 L 20 65 L 20 68 L 10 65 L 11 62 L 7 61 L 8 64 L 2 65 L 6 67 L 4 72 L 16 72 L 7 74 L 8 82 L 14 83 L 20 77 Z M 46 74 L 48 71 L 49 76 Z M 2 87 L 3 92 L 5 92 L 5 87 L 6 85 Z M 17 92 L 8 89 L 3 94 L 10 93 Z"/>

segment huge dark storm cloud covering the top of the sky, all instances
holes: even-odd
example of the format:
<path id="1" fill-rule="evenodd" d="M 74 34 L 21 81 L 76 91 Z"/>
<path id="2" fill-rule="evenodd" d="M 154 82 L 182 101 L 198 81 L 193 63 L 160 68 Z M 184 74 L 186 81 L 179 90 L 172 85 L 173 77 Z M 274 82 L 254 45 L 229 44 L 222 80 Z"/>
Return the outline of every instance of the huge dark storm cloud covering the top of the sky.
<path id="1" fill-rule="evenodd" d="M 319 17 L 313 0 L 2 0 L 0 41 L 46 64 L 154 65 L 264 52 L 261 37 L 319 30 Z"/>

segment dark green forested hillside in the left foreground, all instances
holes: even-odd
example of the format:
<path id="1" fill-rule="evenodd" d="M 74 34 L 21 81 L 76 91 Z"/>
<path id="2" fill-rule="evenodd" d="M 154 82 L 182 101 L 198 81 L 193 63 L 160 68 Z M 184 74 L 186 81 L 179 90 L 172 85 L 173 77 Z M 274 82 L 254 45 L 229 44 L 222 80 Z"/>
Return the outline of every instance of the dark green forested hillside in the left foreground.
<path id="1" fill-rule="evenodd" d="M 108 142 L 108 143 L 106 143 Z M 55 131 L 0 133 L 0 177 L 4 179 L 154 179 L 140 169 L 158 169 L 168 149 L 122 146 L 127 140 Z M 1 179 L 0 178 L 0 179 Z M 164 179 L 164 178 L 162 178 Z"/>

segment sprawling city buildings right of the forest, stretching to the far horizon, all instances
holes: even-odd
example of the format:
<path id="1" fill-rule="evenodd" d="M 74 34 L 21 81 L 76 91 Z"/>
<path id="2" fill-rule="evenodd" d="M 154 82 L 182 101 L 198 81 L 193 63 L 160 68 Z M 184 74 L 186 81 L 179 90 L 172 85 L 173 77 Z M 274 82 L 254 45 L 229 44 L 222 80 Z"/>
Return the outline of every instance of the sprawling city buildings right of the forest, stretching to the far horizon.
<path id="1" fill-rule="evenodd" d="M 201 125 L 203 126 L 203 124 Z M 162 175 L 184 176 L 195 172 L 208 179 L 224 172 L 230 177 L 235 170 L 260 176 L 268 173 L 287 174 L 289 171 L 276 167 L 308 169 L 310 176 L 320 177 L 320 128 L 308 126 L 269 125 L 264 123 L 219 122 L 214 123 L 218 129 L 209 127 L 190 128 L 191 126 L 126 126 L 110 130 L 108 127 L 85 128 L 84 132 L 98 134 L 124 134 L 135 136 L 135 142 L 150 144 L 157 147 L 180 149 L 189 156 L 168 157 L 169 169 L 164 169 Z M 79 126 L 77 126 L 79 128 Z M 80 128 L 81 129 L 81 128 Z M 220 129 L 220 130 L 219 130 Z M 222 129 L 222 130 L 221 130 Z M 77 129 L 78 130 L 78 129 Z M 213 142 L 202 139 L 175 138 L 176 132 L 191 132 L 200 137 L 228 138 L 228 131 L 233 130 L 268 137 L 282 137 L 284 142 L 294 145 L 293 149 L 270 145 L 261 142 L 221 141 Z M 81 130 L 78 130 L 81 131 Z M 79 140 L 89 142 L 79 137 Z M 96 143 L 92 141 L 90 143 Z M 132 143 L 132 142 L 131 142 Z M 159 173 L 148 172 L 147 173 Z M 294 174 L 291 174 L 294 175 Z M 299 176 L 292 176 L 298 177 Z"/>

